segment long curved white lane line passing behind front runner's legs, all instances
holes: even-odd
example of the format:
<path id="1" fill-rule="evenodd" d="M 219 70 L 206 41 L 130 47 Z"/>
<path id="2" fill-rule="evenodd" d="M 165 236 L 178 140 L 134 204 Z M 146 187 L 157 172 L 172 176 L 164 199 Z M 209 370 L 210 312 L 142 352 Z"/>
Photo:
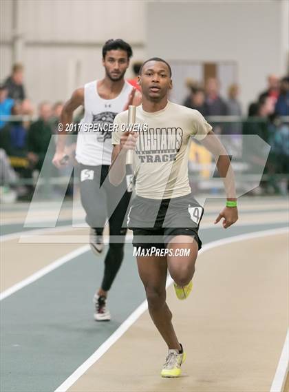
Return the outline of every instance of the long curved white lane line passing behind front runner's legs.
<path id="1" fill-rule="evenodd" d="M 224 238 L 223 240 L 213 241 L 212 243 L 204 245 L 200 250 L 200 253 L 204 253 L 205 251 L 215 247 L 235 243 L 237 241 L 261 238 L 264 236 L 275 236 L 277 234 L 284 234 L 287 232 L 288 228 L 286 227 Z M 169 287 L 172 282 L 173 280 L 169 278 L 167 280 L 166 287 Z M 103 344 L 101 344 L 101 346 L 96 351 L 94 351 L 94 353 L 85 362 L 83 362 L 83 364 L 81 364 L 81 366 L 78 367 L 78 369 L 76 369 L 72 375 L 69 375 L 69 377 L 60 386 L 58 386 L 54 392 L 66 392 L 67 389 L 69 389 L 70 386 L 72 386 L 78 380 L 78 378 L 81 378 L 81 376 L 89 369 L 89 367 L 92 367 L 92 365 L 97 360 L 99 360 L 118 339 L 121 338 L 127 329 L 129 329 L 145 311 L 147 311 L 147 301 L 142 302 L 142 304 L 135 311 L 133 311 L 133 313 L 131 313 L 131 315 L 124 322 L 122 322 L 120 327 L 118 327 L 118 329 L 116 329 L 116 331 L 114 331 L 114 333 L 107 340 L 105 340 L 105 342 L 103 342 Z"/>

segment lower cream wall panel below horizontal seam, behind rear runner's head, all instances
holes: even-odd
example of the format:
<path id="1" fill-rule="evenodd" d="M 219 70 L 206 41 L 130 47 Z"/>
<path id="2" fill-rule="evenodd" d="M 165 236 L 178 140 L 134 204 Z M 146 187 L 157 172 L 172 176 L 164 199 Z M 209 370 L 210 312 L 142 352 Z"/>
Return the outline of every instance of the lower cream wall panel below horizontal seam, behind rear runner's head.
<path id="1" fill-rule="evenodd" d="M 144 59 L 144 50 L 134 50 L 132 61 Z M 25 84 L 28 95 L 35 103 L 43 100 L 67 100 L 72 91 L 88 81 L 101 79 L 104 68 L 101 61 L 101 48 L 93 47 L 28 47 Z M 74 64 L 80 64 L 80 74 L 74 80 Z M 127 78 L 131 77 L 129 70 Z"/>

